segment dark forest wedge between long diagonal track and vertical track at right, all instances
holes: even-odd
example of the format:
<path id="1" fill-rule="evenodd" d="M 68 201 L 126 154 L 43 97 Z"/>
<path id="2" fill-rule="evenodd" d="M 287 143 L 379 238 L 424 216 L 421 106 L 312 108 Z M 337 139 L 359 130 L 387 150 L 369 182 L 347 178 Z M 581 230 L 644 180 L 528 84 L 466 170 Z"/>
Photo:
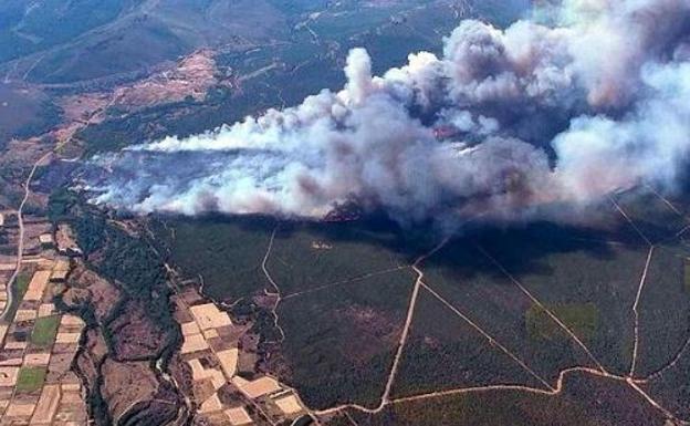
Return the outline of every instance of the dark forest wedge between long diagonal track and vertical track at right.
<path id="1" fill-rule="evenodd" d="M 623 219 L 618 220 L 623 222 Z M 628 235 L 625 232 L 623 236 Z M 616 232 L 610 235 L 613 238 Z M 477 243 L 542 304 L 596 306 L 596 326 L 593 326 L 592 308 L 566 310 L 563 314 L 574 315 L 573 324 L 582 328 L 582 337 L 586 337 L 586 345 L 600 363 L 613 372 L 624 373 L 629 371 L 634 344 L 630 306 L 635 302 L 649 248 L 636 243 L 599 242 L 602 238 L 607 238 L 605 232 L 588 235 L 568 227 L 534 224 L 524 229 L 484 231 Z M 493 273 L 506 279 L 496 264 L 493 264 Z M 518 288 L 510 280 L 506 283 Z M 520 325 L 523 329 L 527 329 L 525 324 L 530 328 L 530 324 L 548 324 L 547 321 L 539 321 L 537 315 L 533 315 L 537 321 L 525 319 L 524 314 L 533 302 L 524 294 L 522 300 Z M 553 335 L 542 325 L 532 328 L 532 331 Z M 523 330 L 521 334 L 526 333 Z M 533 337 L 534 333 L 526 335 L 527 341 L 535 342 Z M 545 340 L 548 344 L 566 341 Z M 579 356 L 583 351 L 577 346 L 574 344 L 572 347 Z"/>

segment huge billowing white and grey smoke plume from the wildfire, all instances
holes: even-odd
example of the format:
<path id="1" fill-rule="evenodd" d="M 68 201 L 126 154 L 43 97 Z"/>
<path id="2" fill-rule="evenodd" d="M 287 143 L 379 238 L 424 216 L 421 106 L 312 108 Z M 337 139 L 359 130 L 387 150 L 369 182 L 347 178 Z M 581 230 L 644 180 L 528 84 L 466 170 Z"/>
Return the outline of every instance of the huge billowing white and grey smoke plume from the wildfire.
<path id="1" fill-rule="evenodd" d="M 94 200 L 137 212 L 400 221 L 562 218 L 615 190 L 672 189 L 690 150 L 690 0 L 564 0 L 505 30 L 467 20 L 441 58 L 301 105 L 95 158 Z"/>

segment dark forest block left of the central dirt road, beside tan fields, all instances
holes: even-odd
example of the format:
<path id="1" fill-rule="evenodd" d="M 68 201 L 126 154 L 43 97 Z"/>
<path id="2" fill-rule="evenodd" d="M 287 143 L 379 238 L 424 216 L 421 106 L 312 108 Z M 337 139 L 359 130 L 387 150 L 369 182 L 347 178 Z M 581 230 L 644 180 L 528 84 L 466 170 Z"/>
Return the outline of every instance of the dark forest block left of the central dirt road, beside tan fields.
<path id="1" fill-rule="evenodd" d="M 276 291 L 271 280 L 279 283 L 280 321 L 262 334 L 284 333 L 278 367 L 307 403 L 376 402 L 415 281 L 406 256 L 394 250 L 399 235 L 360 224 L 276 227 L 260 218 L 164 220 L 151 228 L 182 278 L 201 277 L 213 300 L 253 297 L 265 308 L 264 292 Z M 333 376 L 341 385 L 325 386 Z"/>

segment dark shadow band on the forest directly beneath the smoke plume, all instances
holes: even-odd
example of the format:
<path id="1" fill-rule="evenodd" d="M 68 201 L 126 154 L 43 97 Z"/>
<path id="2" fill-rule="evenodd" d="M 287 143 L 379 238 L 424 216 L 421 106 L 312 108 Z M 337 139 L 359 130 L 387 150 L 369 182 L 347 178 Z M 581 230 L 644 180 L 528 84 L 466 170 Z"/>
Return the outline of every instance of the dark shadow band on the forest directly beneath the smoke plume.
<path id="1" fill-rule="evenodd" d="M 158 217 L 166 218 L 160 215 Z M 296 232 L 309 231 L 316 238 L 334 243 L 370 245 L 383 248 L 408 263 L 432 250 L 443 239 L 442 233 L 431 224 L 404 228 L 383 212 L 343 222 L 281 220 L 269 216 L 221 214 L 207 214 L 189 219 L 180 219 L 179 216 L 168 218 L 232 224 L 245 231 L 261 233 L 263 238 L 278 225 L 276 239 L 280 240 L 288 240 Z M 472 247 L 472 250 L 467 250 L 468 247 Z M 478 274 L 502 274 L 495 264 L 487 261 L 487 257 L 479 249 L 481 248 L 491 256 L 500 254 L 501 266 L 516 277 L 529 273 L 548 274 L 551 268 L 544 259 L 550 256 L 584 252 L 598 259 L 615 260 L 614 247 L 644 250 L 646 242 L 623 219 L 606 229 L 550 221 L 510 226 L 474 224 L 451 237 L 443 249 L 425 259 L 422 266 L 461 268 L 463 271 Z"/>

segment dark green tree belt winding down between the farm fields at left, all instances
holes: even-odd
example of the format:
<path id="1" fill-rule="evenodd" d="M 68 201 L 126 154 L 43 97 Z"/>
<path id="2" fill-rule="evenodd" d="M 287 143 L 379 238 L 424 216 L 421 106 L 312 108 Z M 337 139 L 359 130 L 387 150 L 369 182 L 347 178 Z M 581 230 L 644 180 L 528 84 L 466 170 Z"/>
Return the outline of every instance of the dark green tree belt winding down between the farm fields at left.
<path id="1" fill-rule="evenodd" d="M 94 306 L 88 301 L 77 301 L 77 304 L 67 306 L 58 297 L 55 305 L 79 314 L 88 329 L 100 329 L 107 345 L 107 359 L 149 361 L 151 365 L 161 359 L 163 367 L 167 368 L 170 356 L 181 344 L 181 335 L 169 304 L 171 290 L 168 287 L 164 263 L 151 242 L 144 236 L 145 232 L 139 235 L 130 229 L 124 229 L 123 218 L 108 216 L 106 211 L 87 205 L 82 197 L 55 195 L 51 197 L 50 207 L 72 225 L 76 240 L 84 250 L 86 266 L 121 291 L 121 299 L 107 316 L 100 321 L 96 321 Z M 142 303 L 146 306 L 143 311 L 145 318 L 138 319 L 147 322 L 143 325 L 164 331 L 160 336 L 156 336 L 155 342 L 153 339 L 146 342 L 147 347 L 151 347 L 151 353 L 122 356 L 124 351 L 119 350 L 119 342 L 137 339 L 136 330 L 127 331 L 126 336 L 117 335 L 118 340 L 115 339 L 113 328 L 117 326 L 118 319 L 128 313 L 129 303 Z M 124 332 L 121 330 L 119 333 Z M 101 375 L 96 375 L 95 383 L 88 388 L 86 401 L 96 424 L 109 425 L 112 419 L 107 402 L 102 395 L 102 380 Z"/>

